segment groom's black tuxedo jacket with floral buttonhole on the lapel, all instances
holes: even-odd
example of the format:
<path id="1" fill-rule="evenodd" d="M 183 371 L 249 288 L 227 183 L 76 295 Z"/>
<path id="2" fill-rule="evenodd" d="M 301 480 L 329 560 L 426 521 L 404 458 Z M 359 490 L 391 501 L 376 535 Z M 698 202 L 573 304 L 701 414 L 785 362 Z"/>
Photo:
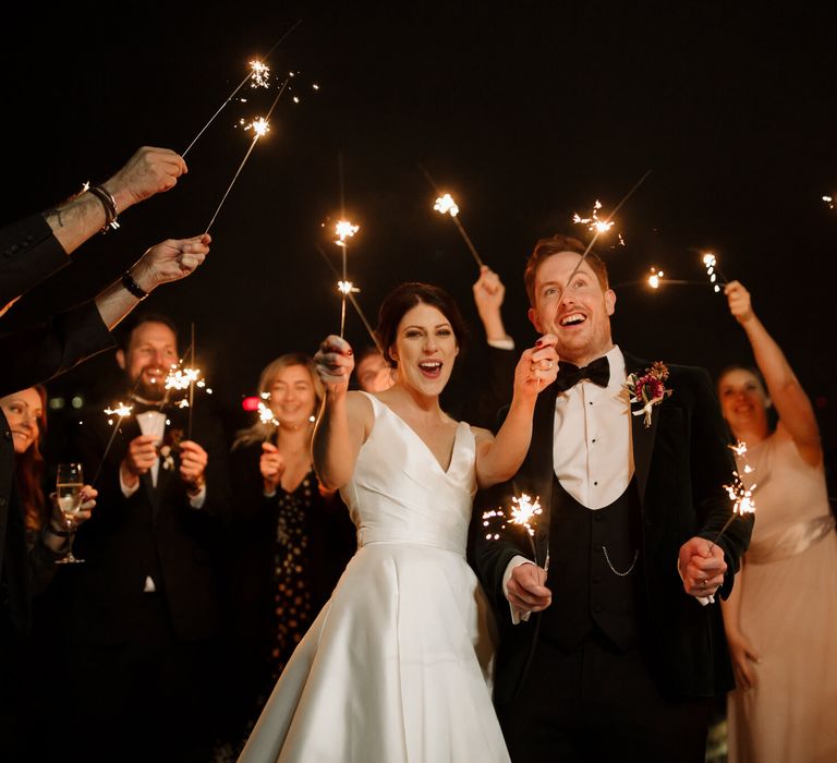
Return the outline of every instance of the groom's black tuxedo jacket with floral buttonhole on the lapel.
<path id="1" fill-rule="evenodd" d="M 641 375 L 651 366 L 624 355 L 626 368 Z M 652 424 L 632 416 L 635 485 L 641 518 L 640 558 L 644 565 L 641 605 L 646 613 L 641 634 L 660 689 L 669 697 L 708 697 L 732 686 L 719 604 L 701 606 L 683 591 L 677 570 L 680 546 L 692 536 L 715 538 L 731 512 L 724 485 L 732 481 L 735 462 L 728 436 L 712 389 L 702 368 L 668 366 L 666 387 L 672 395 L 655 405 Z M 532 444 L 514 479 L 478 495 L 474 505 L 471 561 L 495 607 L 500 627 L 495 700 L 511 702 L 525 676 L 538 638 L 539 616 L 511 625 L 509 604 L 502 593 L 502 576 L 517 554 L 531 558 L 522 533 L 507 532 L 486 540 L 480 532 L 482 512 L 509 506 L 512 495 L 539 496 L 544 509 L 536 522 L 535 543 L 539 564 L 546 558 L 549 507 L 554 486 L 553 429 L 556 389 L 541 393 L 534 414 Z M 639 408 L 632 405 L 632 409 Z M 561 432 L 559 437 L 582 437 L 581 432 Z M 729 569 L 719 593 L 729 594 L 741 555 L 752 530 L 749 519 L 737 519 L 718 541 Z M 580 571 L 581 572 L 581 571 Z M 561 585 L 553 585 L 553 603 L 561 606 Z"/>

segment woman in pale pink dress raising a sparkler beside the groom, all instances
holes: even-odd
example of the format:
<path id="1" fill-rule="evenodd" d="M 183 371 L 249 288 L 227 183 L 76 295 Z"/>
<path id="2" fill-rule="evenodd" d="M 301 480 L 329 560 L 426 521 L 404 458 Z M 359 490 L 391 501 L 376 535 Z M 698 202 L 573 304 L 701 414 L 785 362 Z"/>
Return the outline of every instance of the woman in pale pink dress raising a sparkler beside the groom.
<path id="1" fill-rule="evenodd" d="M 811 401 L 738 281 L 725 289 L 759 373 L 718 378 L 756 521 L 724 622 L 736 670 L 730 763 L 837 760 L 837 534 Z M 769 409 L 778 414 L 771 429 Z M 752 470 L 752 471 L 749 471 Z"/>

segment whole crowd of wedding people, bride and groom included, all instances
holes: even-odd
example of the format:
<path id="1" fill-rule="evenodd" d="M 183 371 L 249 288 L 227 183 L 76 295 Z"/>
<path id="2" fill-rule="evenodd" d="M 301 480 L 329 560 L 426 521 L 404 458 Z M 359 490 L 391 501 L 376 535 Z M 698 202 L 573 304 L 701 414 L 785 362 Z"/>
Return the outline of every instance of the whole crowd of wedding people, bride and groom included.
<path id="1" fill-rule="evenodd" d="M 698 762 L 727 694 L 730 761 L 837 756 L 823 449 L 742 284 L 726 293 L 757 370 L 714 387 L 616 344 L 604 262 L 557 234 L 523 274 L 532 347 L 515 350 L 505 286 L 481 269 L 490 373 L 469 383 L 470 423 L 440 402 L 459 307 L 409 282 L 376 348 L 329 336 L 267 363 L 269 415 L 229 437 L 163 384 L 174 324 L 126 318 L 202 265 L 206 234 L 151 246 L 66 314 L 3 326 L 185 171 L 141 148 L 0 233 L 3 760 Z M 43 385 L 114 347 L 132 411 L 70 437 L 85 484 L 68 512 Z M 736 474 L 755 517 L 733 514 Z M 539 508 L 521 519 L 524 494 Z"/>

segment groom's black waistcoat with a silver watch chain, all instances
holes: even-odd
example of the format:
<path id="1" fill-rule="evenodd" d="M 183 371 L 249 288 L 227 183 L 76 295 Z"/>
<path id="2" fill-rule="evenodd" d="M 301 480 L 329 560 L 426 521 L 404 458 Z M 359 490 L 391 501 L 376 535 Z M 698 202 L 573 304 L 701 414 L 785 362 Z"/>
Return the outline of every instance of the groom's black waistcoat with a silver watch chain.
<path id="1" fill-rule="evenodd" d="M 542 614 L 541 635 L 572 650 L 598 629 L 628 649 L 638 638 L 643 574 L 635 479 L 597 510 L 579 504 L 554 481 L 546 583 L 553 605 Z"/>

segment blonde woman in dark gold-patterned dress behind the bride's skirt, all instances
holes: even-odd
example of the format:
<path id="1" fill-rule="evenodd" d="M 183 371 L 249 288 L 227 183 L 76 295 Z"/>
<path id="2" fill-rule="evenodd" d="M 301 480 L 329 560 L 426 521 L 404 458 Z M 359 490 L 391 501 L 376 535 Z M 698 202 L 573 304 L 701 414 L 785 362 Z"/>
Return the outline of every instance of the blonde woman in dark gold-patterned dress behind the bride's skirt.
<path id="1" fill-rule="evenodd" d="M 232 516 L 223 546 L 225 626 L 238 751 L 270 690 L 356 548 L 340 496 L 314 473 L 311 437 L 323 384 L 307 355 L 262 372 L 270 421 L 238 433 L 230 456 Z"/>

